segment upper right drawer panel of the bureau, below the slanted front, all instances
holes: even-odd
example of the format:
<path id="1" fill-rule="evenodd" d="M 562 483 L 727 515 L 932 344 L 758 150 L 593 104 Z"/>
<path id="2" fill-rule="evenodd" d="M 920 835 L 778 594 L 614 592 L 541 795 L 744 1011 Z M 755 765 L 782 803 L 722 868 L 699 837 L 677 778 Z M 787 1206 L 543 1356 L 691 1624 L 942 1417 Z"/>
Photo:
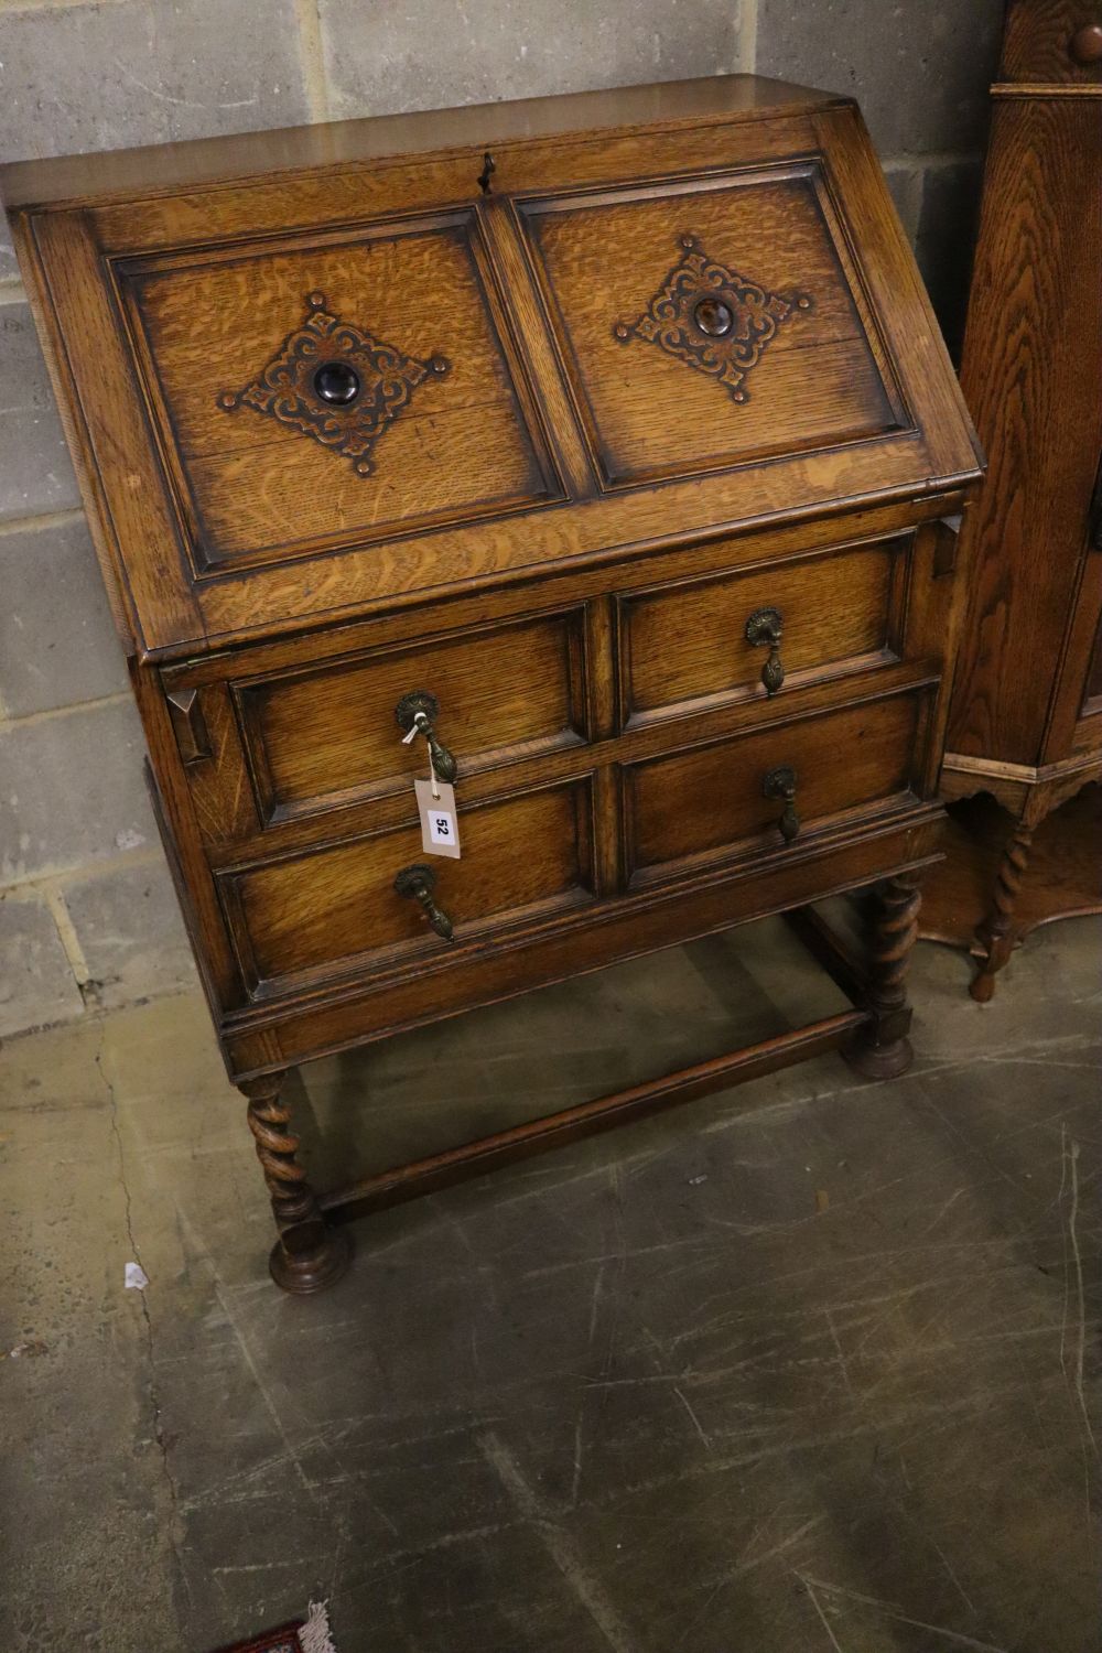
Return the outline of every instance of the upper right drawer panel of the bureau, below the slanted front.
<path id="1" fill-rule="evenodd" d="M 780 615 L 788 688 L 897 658 L 909 545 L 900 536 L 621 598 L 625 719 L 763 694 L 768 646 L 747 640 L 747 622 L 763 608 Z"/>

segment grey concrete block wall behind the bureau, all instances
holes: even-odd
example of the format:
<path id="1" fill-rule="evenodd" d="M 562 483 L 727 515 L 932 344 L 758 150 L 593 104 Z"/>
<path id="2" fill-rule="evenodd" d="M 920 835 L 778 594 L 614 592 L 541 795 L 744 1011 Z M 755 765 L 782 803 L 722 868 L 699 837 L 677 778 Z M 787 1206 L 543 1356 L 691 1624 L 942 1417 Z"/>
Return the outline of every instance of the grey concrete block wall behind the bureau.
<path id="1" fill-rule="evenodd" d="M 0 0 L 7 160 L 753 71 L 859 98 L 950 342 L 1001 0 Z M 0 222 L 0 1033 L 193 979 Z"/>

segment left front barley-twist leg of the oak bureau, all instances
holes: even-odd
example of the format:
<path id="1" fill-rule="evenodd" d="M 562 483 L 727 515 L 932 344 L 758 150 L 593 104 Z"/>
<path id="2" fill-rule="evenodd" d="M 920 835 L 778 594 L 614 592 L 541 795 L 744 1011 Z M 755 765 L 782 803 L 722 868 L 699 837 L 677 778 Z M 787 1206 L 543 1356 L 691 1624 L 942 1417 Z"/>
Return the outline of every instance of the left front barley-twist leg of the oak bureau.
<path id="1" fill-rule="evenodd" d="M 299 1139 L 291 1131 L 291 1109 L 279 1101 L 286 1073 L 243 1079 L 238 1089 L 248 1098 L 249 1131 L 256 1157 L 264 1167 L 279 1238 L 268 1266 L 284 1291 L 324 1291 L 339 1279 L 352 1255 L 349 1236 L 322 1217 L 314 1190 L 296 1155 Z"/>

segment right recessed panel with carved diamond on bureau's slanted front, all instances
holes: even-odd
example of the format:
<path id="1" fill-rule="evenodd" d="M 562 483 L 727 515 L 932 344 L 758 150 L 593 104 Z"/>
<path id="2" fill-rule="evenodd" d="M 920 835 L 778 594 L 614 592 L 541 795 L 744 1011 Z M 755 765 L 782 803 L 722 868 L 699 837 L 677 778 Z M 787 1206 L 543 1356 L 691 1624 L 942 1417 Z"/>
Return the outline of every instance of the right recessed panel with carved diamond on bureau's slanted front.
<path id="1" fill-rule="evenodd" d="M 606 486 L 907 423 L 818 165 L 540 200 L 524 222 Z"/>

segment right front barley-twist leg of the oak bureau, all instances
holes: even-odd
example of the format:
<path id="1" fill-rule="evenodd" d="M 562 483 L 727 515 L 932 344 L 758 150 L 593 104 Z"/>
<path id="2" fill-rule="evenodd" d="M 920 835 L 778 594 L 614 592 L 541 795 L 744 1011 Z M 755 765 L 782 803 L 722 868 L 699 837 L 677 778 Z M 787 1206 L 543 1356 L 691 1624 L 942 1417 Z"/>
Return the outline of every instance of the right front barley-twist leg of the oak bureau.
<path id="1" fill-rule="evenodd" d="M 892 1079 L 914 1061 L 907 1033 L 907 964 L 919 934 L 922 896 L 915 873 L 889 878 L 876 893 L 869 936 L 866 1008 L 872 1022 L 844 1051 L 849 1066 L 866 1079 Z"/>

